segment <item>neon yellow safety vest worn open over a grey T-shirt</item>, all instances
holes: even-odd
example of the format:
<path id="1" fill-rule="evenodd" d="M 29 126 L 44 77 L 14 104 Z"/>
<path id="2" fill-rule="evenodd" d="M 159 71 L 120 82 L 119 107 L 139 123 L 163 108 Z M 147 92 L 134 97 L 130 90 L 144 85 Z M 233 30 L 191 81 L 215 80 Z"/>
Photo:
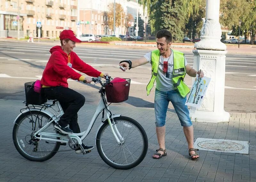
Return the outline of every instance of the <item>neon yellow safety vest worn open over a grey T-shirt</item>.
<path id="1" fill-rule="evenodd" d="M 184 98 L 190 92 L 190 89 L 183 81 L 186 75 L 185 57 L 182 52 L 179 52 L 173 49 L 172 49 L 172 52 L 173 52 L 172 80 L 174 82 L 173 86 L 177 87 L 180 95 Z M 150 91 L 154 86 L 156 76 L 158 73 L 159 60 L 160 60 L 160 51 L 158 49 L 152 51 L 151 52 L 152 76 L 147 85 L 147 95 L 150 94 Z"/>

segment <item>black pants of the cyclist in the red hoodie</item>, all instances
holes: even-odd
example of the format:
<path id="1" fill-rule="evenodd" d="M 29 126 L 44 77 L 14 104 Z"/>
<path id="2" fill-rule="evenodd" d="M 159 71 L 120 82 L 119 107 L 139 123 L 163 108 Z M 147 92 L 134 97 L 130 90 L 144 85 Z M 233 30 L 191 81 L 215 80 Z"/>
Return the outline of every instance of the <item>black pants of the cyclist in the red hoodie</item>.
<path id="1" fill-rule="evenodd" d="M 69 128 L 74 133 L 80 133 L 77 123 L 77 112 L 84 105 L 84 96 L 75 90 L 62 86 L 47 87 L 43 89 L 43 92 L 49 100 L 57 99 L 60 102 L 64 114 L 60 117 L 59 124 L 61 126 L 69 124 Z"/>

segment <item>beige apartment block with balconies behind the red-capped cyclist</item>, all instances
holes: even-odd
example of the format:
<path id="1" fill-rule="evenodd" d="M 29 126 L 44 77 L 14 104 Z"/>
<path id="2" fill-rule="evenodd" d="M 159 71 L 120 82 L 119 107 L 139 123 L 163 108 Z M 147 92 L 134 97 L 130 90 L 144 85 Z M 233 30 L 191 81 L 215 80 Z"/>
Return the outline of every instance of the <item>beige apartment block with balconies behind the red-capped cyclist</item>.
<path id="1" fill-rule="evenodd" d="M 0 37 L 57 38 L 64 29 L 77 31 L 78 0 L 0 0 Z M 41 25 L 41 27 L 39 26 Z"/>

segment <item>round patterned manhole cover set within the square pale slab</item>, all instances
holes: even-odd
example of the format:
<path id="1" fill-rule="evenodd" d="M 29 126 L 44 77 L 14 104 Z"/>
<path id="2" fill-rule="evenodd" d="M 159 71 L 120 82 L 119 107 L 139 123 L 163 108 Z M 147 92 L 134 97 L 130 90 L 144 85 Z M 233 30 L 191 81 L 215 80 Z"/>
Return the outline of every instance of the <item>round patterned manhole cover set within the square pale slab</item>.
<path id="1" fill-rule="evenodd" d="M 231 141 L 202 141 L 197 144 L 201 148 L 212 149 L 218 151 L 234 151 L 234 150 L 243 150 L 244 145 Z"/>

